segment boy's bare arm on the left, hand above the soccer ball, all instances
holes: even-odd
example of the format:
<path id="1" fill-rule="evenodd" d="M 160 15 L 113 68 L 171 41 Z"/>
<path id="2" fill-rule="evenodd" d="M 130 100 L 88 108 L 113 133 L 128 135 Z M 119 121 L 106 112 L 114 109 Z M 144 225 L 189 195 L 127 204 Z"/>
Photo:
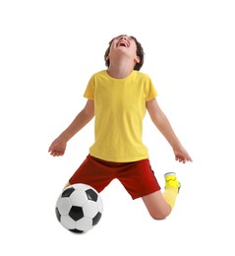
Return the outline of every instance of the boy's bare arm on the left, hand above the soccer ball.
<path id="1" fill-rule="evenodd" d="M 88 99 L 84 109 L 75 117 L 68 128 L 56 138 L 49 147 L 48 152 L 53 157 L 63 156 L 66 150 L 67 142 L 84 128 L 94 116 L 93 100 Z"/>

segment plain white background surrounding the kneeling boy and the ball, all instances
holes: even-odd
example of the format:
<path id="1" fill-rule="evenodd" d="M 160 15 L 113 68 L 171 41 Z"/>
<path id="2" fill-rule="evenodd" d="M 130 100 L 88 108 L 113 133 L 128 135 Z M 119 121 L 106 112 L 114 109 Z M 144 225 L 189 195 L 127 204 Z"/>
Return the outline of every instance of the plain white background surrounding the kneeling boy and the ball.
<path id="1" fill-rule="evenodd" d="M 1 254 L 232 255 L 234 13 L 229 0 L 0 2 Z M 176 162 L 147 116 L 161 187 L 167 171 L 182 183 L 171 216 L 153 221 L 114 181 L 101 193 L 100 223 L 75 235 L 54 206 L 88 154 L 92 122 L 63 158 L 47 150 L 84 106 L 88 79 L 105 69 L 108 42 L 120 33 L 142 42 L 142 71 L 194 162 Z"/>

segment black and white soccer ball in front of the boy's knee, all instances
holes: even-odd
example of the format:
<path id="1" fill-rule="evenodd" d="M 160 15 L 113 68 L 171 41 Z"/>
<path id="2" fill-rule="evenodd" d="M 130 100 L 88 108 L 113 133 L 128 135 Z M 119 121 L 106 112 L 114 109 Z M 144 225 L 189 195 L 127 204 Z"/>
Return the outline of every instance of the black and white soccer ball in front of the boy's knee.
<path id="1" fill-rule="evenodd" d="M 66 187 L 57 199 L 55 213 L 66 229 L 83 233 L 101 219 L 103 204 L 98 192 L 87 184 Z"/>

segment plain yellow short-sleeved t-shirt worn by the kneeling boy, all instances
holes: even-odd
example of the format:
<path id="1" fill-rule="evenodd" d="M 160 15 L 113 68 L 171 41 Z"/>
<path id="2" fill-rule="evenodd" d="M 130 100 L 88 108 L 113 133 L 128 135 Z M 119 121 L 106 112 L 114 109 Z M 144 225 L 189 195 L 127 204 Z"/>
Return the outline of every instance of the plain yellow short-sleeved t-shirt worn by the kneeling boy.
<path id="1" fill-rule="evenodd" d="M 114 79 L 106 70 L 94 74 L 85 92 L 94 100 L 94 143 L 90 156 L 128 162 L 148 158 L 142 141 L 146 101 L 157 96 L 150 78 L 133 71 L 127 78 Z"/>

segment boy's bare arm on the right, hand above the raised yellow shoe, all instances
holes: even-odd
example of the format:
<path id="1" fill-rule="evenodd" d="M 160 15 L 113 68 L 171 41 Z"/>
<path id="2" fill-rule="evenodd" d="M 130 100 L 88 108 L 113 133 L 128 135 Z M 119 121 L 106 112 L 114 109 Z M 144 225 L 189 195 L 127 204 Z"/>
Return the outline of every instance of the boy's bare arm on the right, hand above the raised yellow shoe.
<path id="1" fill-rule="evenodd" d="M 147 111 L 154 125 L 171 145 L 175 154 L 175 160 L 179 160 L 184 163 L 189 160 L 192 161 L 191 157 L 175 135 L 169 120 L 160 109 L 155 98 L 147 101 Z"/>

